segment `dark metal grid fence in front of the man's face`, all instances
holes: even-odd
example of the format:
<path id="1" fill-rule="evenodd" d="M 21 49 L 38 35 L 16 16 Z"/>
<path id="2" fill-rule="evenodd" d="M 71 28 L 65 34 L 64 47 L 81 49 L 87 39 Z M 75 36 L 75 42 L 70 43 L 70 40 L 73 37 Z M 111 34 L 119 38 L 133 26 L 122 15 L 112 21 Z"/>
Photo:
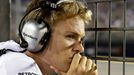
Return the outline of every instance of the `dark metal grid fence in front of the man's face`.
<path id="1" fill-rule="evenodd" d="M 133 27 L 128 27 L 128 20 L 127 19 L 129 17 L 127 16 L 128 15 L 128 13 L 127 13 L 128 7 L 127 6 L 129 6 L 128 5 L 129 1 L 130 1 L 130 3 L 131 2 L 134 3 L 134 1 L 132 1 L 132 0 L 89 0 L 89 1 L 87 1 L 89 8 L 91 8 L 91 10 L 93 11 L 93 23 L 92 24 L 94 27 L 87 27 L 86 32 L 94 32 L 94 38 L 95 38 L 94 40 L 90 40 L 90 38 L 92 37 L 92 36 L 90 36 L 89 40 L 88 40 L 89 41 L 88 46 L 91 45 L 92 47 L 94 47 L 94 50 L 95 50 L 94 54 L 91 55 L 91 58 L 93 58 L 95 60 L 96 64 L 97 64 L 98 60 L 108 61 L 108 74 L 107 75 L 111 75 L 111 62 L 112 61 L 123 63 L 122 64 L 122 72 L 123 72 L 122 75 L 126 75 L 126 73 L 125 73 L 126 72 L 126 65 L 125 64 L 127 62 L 132 62 L 132 63 L 134 62 L 134 59 L 128 58 L 126 56 L 126 54 L 127 54 L 127 47 L 126 46 L 127 46 L 128 40 L 129 40 L 129 38 L 127 38 L 128 37 L 127 32 L 134 31 L 134 24 L 133 24 Z M 103 8 L 98 7 L 98 5 L 101 3 L 103 3 L 105 11 L 106 11 L 105 8 L 107 8 L 106 15 L 108 15 L 108 18 L 106 18 L 106 19 L 107 19 L 108 23 L 106 24 L 105 27 L 99 26 L 100 25 L 99 15 L 101 13 L 101 12 L 99 12 L 99 9 L 103 9 Z M 119 16 L 119 17 L 121 17 L 120 19 L 121 19 L 122 24 L 121 24 L 121 26 L 118 26 L 118 27 L 112 26 L 112 25 L 114 25 L 113 24 L 113 15 L 115 13 L 113 13 L 114 12 L 113 7 L 114 7 L 115 3 L 120 3 L 121 9 L 122 9 L 122 11 L 118 12 L 118 14 L 122 14 L 122 16 Z M 107 6 L 105 6 L 105 4 Z M 117 4 L 117 6 L 120 6 L 120 5 Z M 117 9 L 118 9 L 118 7 L 117 7 Z M 134 13 L 133 9 L 132 9 L 132 12 Z M 99 39 L 100 38 L 100 34 L 99 34 L 100 31 L 104 31 L 104 32 L 108 33 L 107 40 Z M 116 38 L 112 37 L 113 31 L 122 32 L 122 42 L 120 42 L 120 44 L 117 44 L 119 42 L 118 39 L 116 40 Z M 120 34 L 116 34 L 116 35 L 120 35 Z M 133 35 L 133 34 L 131 34 L 131 35 Z M 115 42 L 114 44 L 119 45 L 122 48 L 121 53 L 120 53 L 121 55 L 119 55 L 119 56 L 112 55 L 113 39 L 116 40 L 116 41 L 114 41 Z M 99 42 L 100 40 L 103 40 L 103 41 Z M 107 50 L 108 50 L 107 55 L 98 54 L 98 49 L 100 48 L 99 45 L 103 44 L 105 41 L 108 42 L 107 45 L 104 46 L 104 47 L 107 47 Z M 131 39 L 129 42 L 133 42 L 133 39 Z M 132 45 L 134 45 L 134 44 L 132 44 Z M 134 47 L 133 47 L 133 49 L 134 49 Z"/>

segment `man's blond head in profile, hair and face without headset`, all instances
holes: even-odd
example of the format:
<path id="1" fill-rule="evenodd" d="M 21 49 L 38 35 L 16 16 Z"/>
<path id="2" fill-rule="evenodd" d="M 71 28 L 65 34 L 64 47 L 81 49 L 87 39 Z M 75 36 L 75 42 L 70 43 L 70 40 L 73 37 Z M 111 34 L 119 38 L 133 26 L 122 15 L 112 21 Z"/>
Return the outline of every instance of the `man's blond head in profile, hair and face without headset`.
<path id="1" fill-rule="evenodd" d="M 34 0 L 27 12 L 39 5 L 40 1 Z M 84 51 L 82 40 L 85 36 L 85 24 L 91 20 L 90 10 L 80 1 L 64 0 L 58 3 L 56 9 L 34 10 L 26 19 L 37 16 L 41 16 L 51 29 L 47 46 L 41 53 L 42 59 L 47 64 L 66 72 L 74 54 Z"/>

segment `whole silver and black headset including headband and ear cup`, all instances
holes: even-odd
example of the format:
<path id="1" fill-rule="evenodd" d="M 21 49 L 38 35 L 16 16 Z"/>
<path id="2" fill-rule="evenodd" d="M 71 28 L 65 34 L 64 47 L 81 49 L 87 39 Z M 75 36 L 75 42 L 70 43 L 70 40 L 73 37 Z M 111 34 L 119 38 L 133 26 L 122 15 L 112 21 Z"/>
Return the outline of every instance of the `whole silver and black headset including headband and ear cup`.
<path id="1" fill-rule="evenodd" d="M 39 52 L 47 45 L 50 39 L 51 29 L 48 23 L 43 20 L 42 15 L 37 15 L 37 17 L 28 21 L 24 19 L 34 10 L 43 10 L 44 8 L 48 12 L 55 10 L 58 0 L 52 0 L 55 3 L 50 1 L 41 1 L 37 7 L 31 9 L 23 16 L 19 24 L 20 46 L 22 48 L 31 52 Z"/>

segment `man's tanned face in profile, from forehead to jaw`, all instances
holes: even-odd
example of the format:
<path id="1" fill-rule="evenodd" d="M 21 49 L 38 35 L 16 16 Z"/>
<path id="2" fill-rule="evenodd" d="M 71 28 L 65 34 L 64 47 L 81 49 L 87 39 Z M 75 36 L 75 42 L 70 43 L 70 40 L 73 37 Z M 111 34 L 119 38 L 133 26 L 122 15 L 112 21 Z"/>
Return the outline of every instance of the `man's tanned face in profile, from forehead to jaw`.
<path id="1" fill-rule="evenodd" d="M 66 72 L 74 54 L 84 51 L 82 45 L 85 36 L 84 27 L 84 21 L 79 17 L 58 22 L 46 52 L 47 62 L 58 70 Z"/>

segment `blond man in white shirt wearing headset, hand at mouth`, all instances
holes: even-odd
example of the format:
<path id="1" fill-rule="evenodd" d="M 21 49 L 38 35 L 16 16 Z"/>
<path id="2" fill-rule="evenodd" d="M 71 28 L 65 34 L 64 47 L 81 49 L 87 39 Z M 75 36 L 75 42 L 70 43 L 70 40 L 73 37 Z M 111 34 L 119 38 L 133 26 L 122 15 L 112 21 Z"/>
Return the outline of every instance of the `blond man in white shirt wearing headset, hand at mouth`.
<path id="1" fill-rule="evenodd" d="M 22 48 L 13 41 L 5 42 L 5 46 L 0 47 L 8 51 L 0 57 L 2 75 L 53 75 L 54 73 L 97 75 L 97 68 L 93 61 L 80 55 L 84 52 L 82 42 L 85 36 L 85 24 L 91 20 L 90 10 L 82 2 L 75 0 L 61 0 L 54 4 L 51 0 L 44 0 L 48 5 L 45 3 L 43 5 L 41 1 L 32 1 L 26 11 L 28 14 L 24 17 L 26 25 L 20 25 L 19 32 L 22 41 L 20 46 L 27 49 L 25 54 L 18 53 L 17 50 L 20 48 L 21 51 Z M 41 8 L 34 9 L 38 5 L 41 5 Z M 39 20 L 37 20 L 38 18 Z M 32 21 L 30 21 L 31 19 Z M 42 28 L 37 28 L 37 23 L 33 22 L 33 19 L 39 22 L 42 19 L 50 27 L 48 29 L 50 31 L 44 33 L 49 33 L 49 35 L 42 35 L 43 39 L 45 36 L 49 38 L 45 39 L 47 42 L 43 41 L 43 46 L 39 51 L 35 47 L 39 45 L 37 43 L 40 41 L 42 45 L 42 37 L 37 35 L 40 34 L 40 31 L 38 33 L 36 31 L 38 31 L 37 29 L 42 30 Z M 40 24 L 41 22 L 38 24 L 39 27 Z M 35 36 L 32 34 L 33 32 L 36 33 Z M 38 36 L 40 39 L 35 43 Z M 11 43 L 14 45 L 13 48 L 9 48 Z"/>

